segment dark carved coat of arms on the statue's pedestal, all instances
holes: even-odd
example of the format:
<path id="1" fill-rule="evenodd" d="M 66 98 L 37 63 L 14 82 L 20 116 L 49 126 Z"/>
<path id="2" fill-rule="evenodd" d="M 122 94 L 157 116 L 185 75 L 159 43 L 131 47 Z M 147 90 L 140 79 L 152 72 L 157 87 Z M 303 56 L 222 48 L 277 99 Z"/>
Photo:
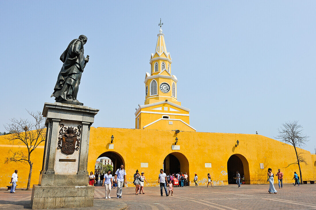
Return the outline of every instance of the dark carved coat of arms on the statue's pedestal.
<path id="1" fill-rule="evenodd" d="M 77 128 L 64 127 L 64 124 L 60 124 L 60 126 L 57 149 L 61 149 L 61 152 L 65 154 L 72 154 L 75 150 L 79 150 L 81 126 L 79 125 Z"/>

